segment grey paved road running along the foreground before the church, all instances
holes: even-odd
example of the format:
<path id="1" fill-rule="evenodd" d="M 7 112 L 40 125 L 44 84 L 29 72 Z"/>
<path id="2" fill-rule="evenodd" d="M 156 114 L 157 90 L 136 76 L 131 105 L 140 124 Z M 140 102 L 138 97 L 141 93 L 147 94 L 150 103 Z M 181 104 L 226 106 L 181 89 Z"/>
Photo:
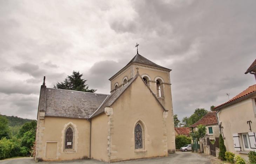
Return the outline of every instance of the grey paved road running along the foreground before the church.
<path id="1" fill-rule="evenodd" d="M 168 157 L 136 159 L 131 161 L 115 162 L 114 164 L 216 164 L 218 159 L 214 156 L 197 154 L 192 152 L 176 152 Z M 18 158 L 0 161 L 0 164 L 35 164 L 33 158 Z M 37 164 L 105 164 L 107 162 L 94 159 L 60 161 L 60 162 L 38 162 Z"/>

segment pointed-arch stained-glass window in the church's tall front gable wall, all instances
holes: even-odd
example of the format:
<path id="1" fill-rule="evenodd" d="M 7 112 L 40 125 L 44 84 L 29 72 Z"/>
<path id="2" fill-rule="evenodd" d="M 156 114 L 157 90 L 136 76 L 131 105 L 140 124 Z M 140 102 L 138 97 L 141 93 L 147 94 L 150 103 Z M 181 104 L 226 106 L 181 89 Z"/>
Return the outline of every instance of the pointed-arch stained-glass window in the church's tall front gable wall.
<path id="1" fill-rule="evenodd" d="M 143 125 L 138 122 L 134 129 L 134 142 L 135 149 L 143 149 L 144 144 L 144 128 Z"/>

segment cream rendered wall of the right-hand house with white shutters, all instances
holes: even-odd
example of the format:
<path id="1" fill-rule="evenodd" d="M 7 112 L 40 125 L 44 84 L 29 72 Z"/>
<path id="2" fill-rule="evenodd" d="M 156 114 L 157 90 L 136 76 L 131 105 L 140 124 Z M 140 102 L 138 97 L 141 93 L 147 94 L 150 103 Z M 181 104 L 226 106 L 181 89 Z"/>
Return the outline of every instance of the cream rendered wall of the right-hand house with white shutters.
<path id="1" fill-rule="evenodd" d="M 254 111 L 252 107 L 251 99 L 245 99 L 243 101 L 237 102 L 233 105 L 225 107 L 220 110 L 218 113 L 219 121 L 222 121 L 221 126 L 223 126 L 223 133 L 224 133 L 224 143 L 227 147 L 227 151 L 233 152 L 237 155 L 242 156 L 245 159 L 248 159 L 248 155 L 244 154 L 247 153 L 246 151 L 238 152 L 235 151 L 234 142 L 233 142 L 233 134 L 235 133 L 248 133 L 249 124 L 247 121 L 251 121 L 251 130 L 256 132 L 256 124 L 254 118 Z M 242 137 L 239 137 L 240 146 L 243 149 L 242 145 Z"/>

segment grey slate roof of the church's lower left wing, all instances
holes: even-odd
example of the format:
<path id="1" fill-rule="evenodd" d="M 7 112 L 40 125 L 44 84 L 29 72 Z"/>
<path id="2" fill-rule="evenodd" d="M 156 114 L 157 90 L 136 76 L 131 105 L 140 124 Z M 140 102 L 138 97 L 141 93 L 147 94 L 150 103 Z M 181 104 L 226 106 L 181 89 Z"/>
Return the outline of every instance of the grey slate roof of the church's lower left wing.
<path id="1" fill-rule="evenodd" d="M 88 118 L 107 94 L 46 88 L 46 116 Z"/>

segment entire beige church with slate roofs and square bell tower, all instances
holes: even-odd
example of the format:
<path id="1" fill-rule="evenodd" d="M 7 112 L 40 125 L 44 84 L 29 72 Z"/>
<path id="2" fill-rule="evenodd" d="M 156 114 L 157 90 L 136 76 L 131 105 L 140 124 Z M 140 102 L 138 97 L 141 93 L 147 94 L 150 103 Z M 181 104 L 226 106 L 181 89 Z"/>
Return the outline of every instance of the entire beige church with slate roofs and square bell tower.
<path id="1" fill-rule="evenodd" d="M 170 69 L 138 53 L 110 80 L 110 95 L 41 85 L 36 161 L 106 162 L 175 152 Z"/>

